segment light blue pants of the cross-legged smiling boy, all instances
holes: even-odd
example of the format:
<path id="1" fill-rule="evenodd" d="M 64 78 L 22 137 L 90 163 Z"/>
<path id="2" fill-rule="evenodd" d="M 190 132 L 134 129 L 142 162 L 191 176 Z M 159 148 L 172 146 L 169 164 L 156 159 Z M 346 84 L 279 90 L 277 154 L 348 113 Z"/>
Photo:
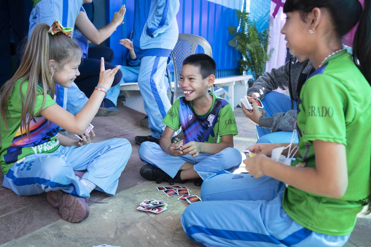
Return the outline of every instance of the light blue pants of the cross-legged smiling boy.
<path id="1" fill-rule="evenodd" d="M 200 153 L 194 158 L 189 154 L 170 156 L 162 150 L 160 145 L 146 141 L 141 144 L 138 152 L 139 158 L 143 162 L 160 168 L 172 178 L 175 177 L 185 161 L 194 165 L 193 169 L 203 180 L 217 171 L 234 171 L 242 162 L 240 151 L 232 147 L 228 147 L 217 154 Z"/>

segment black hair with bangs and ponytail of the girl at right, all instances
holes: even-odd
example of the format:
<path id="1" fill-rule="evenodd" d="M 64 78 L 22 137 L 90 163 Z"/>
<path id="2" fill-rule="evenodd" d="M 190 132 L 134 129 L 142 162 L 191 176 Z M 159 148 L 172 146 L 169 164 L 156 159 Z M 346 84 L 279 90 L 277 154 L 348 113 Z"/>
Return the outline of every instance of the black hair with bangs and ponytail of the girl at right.
<path id="1" fill-rule="evenodd" d="M 359 0 L 286 0 L 283 12 L 298 10 L 301 12 L 303 19 L 304 15 L 311 12 L 315 7 L 325 8 L 329 11 L 335 33 L 339 38 L 347 34 L 359 21 L 353 41 L 353 60 L 371 86 L 370 0 L 364 1 L 363 11 Z M 371 195 L 368 196 L 368 213 L 371 213 Z"/>

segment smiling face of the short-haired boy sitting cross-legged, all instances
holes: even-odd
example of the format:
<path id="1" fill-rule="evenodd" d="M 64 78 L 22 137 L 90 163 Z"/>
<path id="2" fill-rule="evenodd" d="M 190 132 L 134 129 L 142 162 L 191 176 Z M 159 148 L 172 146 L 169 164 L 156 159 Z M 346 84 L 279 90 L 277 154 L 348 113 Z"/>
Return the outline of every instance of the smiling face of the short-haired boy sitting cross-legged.
<path id="1" fill-rule="evenodd" d="M 213 85 L 214 80 L 213 74 L 203 79 L 198 67 L 185 64 L 180 74 L 180 87 L 187 101 L 197 101 L 203 97 L 209 98 L 209 87 Z"/>

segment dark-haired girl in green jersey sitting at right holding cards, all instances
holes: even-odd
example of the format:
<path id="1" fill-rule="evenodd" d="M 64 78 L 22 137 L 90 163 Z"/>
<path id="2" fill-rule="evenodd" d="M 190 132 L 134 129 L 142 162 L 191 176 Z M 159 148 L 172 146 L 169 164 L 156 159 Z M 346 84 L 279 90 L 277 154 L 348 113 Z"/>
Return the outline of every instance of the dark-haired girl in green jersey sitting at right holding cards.
<path id="1" fill-rule="evenodd" d="M 370 0 L 363 11 L 358 0 L 286 0 L 283 11 L 290 53 L 316 69 L 298 99 L 299 153 L 283 164 L 267 156 L 295 144 L 256 144 L 249 174 L 204 181 L 181 221 L 205 246 L 342 246 L 370 203 Z M 352 58 L 341 38 L 358 21 Z"/>

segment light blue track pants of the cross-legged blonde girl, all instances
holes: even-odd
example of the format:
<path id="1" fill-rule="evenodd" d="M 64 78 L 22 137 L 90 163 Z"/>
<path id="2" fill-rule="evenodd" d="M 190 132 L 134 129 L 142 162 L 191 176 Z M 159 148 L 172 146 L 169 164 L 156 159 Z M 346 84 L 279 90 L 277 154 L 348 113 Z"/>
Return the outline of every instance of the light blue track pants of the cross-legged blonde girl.
<path id="1" fill-rule="evenodd" d="M 63 190 L 74 196 L 89 197 L 73 170 L 88 170 L 82 178 L 96 184 L 96 190 L 114 195 L 118 178 L 131 154 L 131 144 L 114 138 L 81 147 L 63 147 L 50 154 L 31 154 L 16 162 L 4 176 L 3 186 L 19 196 Z"/>

